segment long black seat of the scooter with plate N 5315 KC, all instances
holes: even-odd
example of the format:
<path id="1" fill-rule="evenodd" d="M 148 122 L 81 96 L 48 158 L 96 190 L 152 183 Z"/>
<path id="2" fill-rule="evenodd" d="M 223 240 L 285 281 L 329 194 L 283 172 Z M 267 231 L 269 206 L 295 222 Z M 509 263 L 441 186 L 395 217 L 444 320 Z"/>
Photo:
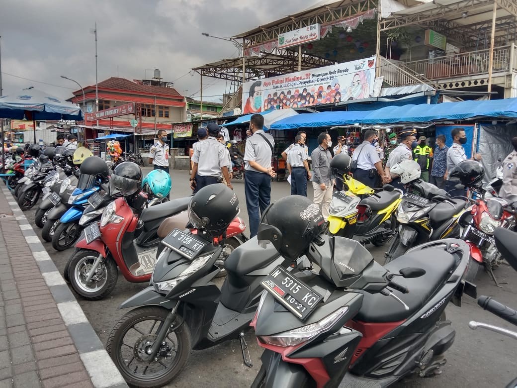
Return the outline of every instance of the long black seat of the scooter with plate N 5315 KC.
<path id="1" fill-rule="evenodd" d="M 405 310 L 391 296 L 361 292 L 363 302 L 354 319 L 362 322 L 398 322 L 407 319 L 424 306 L 438 291 L 455 267 L 454 256 L 444 249 L 432 248 L 410 252 L 393 260 L 384 267 L 392 273 L 399 273 L 404 267 L 419 267 L 425 270 L 423 276 L 405 279 L 396 276 L 394 281 L 407 287 L 409 293 L 392 290 L 408 307 Z"/>

